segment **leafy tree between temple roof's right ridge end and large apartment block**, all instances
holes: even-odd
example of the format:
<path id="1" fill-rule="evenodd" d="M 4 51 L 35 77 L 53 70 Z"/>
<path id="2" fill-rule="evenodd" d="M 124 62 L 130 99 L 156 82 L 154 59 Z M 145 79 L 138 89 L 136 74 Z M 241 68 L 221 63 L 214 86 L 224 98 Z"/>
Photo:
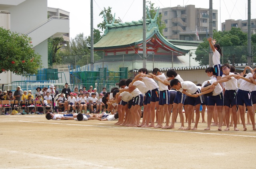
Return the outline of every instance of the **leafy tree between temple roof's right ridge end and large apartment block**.
<path id="1" fill-rule="evenodd" d="M 151 18 L 153 19 L 156 16 L 156 10 L 158 9 L 158 7 L 154 7 L 154 3 L 152 3 L 151 1 L 147 1 L 146 3 L 149 6 L 149 13 Z M 146 15 L 146 18 L 149 19 L 148 14 Z M 166 28 L 166 26 L 165 23 L 162 22 L 162 14 L 158 14 L 156 24 L 158 25 L 159 32 L 163 35 L 163 29 Z"/>

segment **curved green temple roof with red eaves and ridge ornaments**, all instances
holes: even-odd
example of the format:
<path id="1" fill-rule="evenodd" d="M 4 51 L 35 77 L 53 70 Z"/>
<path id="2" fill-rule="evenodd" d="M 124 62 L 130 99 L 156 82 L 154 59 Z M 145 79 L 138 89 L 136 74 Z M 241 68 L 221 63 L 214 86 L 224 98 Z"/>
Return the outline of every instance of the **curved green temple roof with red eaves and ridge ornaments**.
<path id="1" fill-rule="evenodd" d="M 94 44 L 95 51 L 108 51 L 114 49 L 135 49 L 143 44 L 143 21 L 132 21 L 118 24 L 106 24 L 104 36 Z M 176 47 L 166 40 L 159 32 L 155 20 L 146 20 L 146 41 L 147 47 L 159 49 L 158 52 L 170 53 L 174 55 L 185 55 L 188 50 Z"/>

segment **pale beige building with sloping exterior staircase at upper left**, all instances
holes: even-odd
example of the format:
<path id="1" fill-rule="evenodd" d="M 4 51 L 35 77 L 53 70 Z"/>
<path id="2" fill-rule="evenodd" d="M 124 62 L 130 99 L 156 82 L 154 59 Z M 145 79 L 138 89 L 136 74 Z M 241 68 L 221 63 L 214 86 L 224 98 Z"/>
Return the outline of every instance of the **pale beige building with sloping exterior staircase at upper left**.
<path id="1" fill-rule="evenodd" d="M 0 11 L 0 26 L 30 36 L 34 50 L 42 56 L 42 67 L 48 68 L 47 39 L 69 33 L 69 13 L 48 18 L 47 0 L 0 0 Z M 10 84 L 22 77 L 8 72 L 1 73 L 0 79 L 0 84 Z"/>

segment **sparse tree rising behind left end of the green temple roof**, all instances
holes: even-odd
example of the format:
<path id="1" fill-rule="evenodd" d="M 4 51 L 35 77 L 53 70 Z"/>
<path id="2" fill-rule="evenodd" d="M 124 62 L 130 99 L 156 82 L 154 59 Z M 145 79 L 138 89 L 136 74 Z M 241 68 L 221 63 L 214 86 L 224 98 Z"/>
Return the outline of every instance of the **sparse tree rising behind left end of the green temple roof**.
<path id="1" fill-rule="evenodd" d="M 108 9 L 106 9 L 104 7 L 104 10 L 102 12 L 100 12 L 99 16 L 102 16 L 101 18 L 103 18 L 103 21 L 102 23 L 98 24 L 97 27 L 103 32 L 104 29 L 106 29 L 106 22 L 105 22 L 105 19 L 104 19 L 104 15 L 105 15 L 105 18 L 106 18 L 106 21 L 108 22 L 108 24 L 111 24 L 112 23 L 112 20 L 114 18 L 114 16 L 112 15 L 111 13 L 111 9 L 110 7 L 108 7 Z M 115 18 L 115 21 L 114 23 L 119 23 L 120 20 L 116 19 Z"/>

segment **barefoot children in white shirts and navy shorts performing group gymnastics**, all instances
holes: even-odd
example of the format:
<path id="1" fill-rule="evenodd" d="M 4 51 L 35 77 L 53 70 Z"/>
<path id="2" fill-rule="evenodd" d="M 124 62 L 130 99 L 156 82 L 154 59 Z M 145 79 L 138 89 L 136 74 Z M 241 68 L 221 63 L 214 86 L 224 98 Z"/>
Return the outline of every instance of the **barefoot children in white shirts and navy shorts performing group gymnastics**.
<path id="1" fill-rule="evenodd" d="M 169 69 L 166 73 L 154 68 L 152 73 L 148 74 L 148 70 L 142 68 L 138 71 L 138 75 L 134 79 L 122 79 L 118 88 L 112 88 L 111 92 L 107 92 L 102 101 L 108 107 L 110 112 L 118 112 L 118 115 L 112 114 L 111 120 L 117 120 L 116 125 L 132 126 L 132 127 L 154 127 L 154 128 L 174 128 L 177 114 L 180 115 L 180 130 L 197 130 L 200 118 L 200 105 L 207 106 L 207 128 L 210 130 L 214 109 L 218 112 L 218 130 L 222 130 L 222 124 L 226 121 L 226 129 L 230 130 L 230 126 L 234 122 L 234 130 L 237 128 L 237 107 L 243 124 L 243 130 L 247 130 L 245 124 L 245 108 L 250 115 L 252 121 L 252 129 L 255 128 L 255 110 L 256 110 L 256 69 L 246 67 L 244 73 L 239 75 L 235 72 L 235 68 L 229 64 L 220 66 L 220 45 L 215 44 L 215 40 L 208 38 L 210 47 L 213 50 L 214 67 L 206 69 L 206 73 L 210 80 L 205 81 L 202 86 L 197 86 L 191 81 L 184 81 L 180 75 L 173 69 Z M 252 73 L 248 73 L 249 69 Z M 159 81 L 159 86 L 153 80 Z M 172 90 L 168 89 L 168 86 Z M 142 123 L 141 106 L 144 105 Z M 245 106 L 244 106 L 245 105 Z M 183 106 L 185 113 L 188 114 L 188 127 L 184 126 Z M 155 111 L 156 110 L 156 111 Z M 192 128 L 192 114 L 196 112 L 195 125 Z M 225 119 L 223 120 L 223 110 Z M 172 112 L 172 120 L 169 126 L 170 114 Z M 48 117 L 54 119 L 54 114 L 48 113 Z M 230 123 L 230 114 L 233 121 Z M 70 119 L 81 116 L 82 120 L 97 119 L 101 120 L 102 115 L 86 115 L 77 114 Z M 157 116 L 156 116 L 157 115 Z M 107 116 L 107 115 L 106 115 Z M 114 117 L 115 116 L 115 117 Z M 157 117 L 157 125 L 154 124 L 155 116 Z M 163 126 L 163 120 L 166 125 Z M 46 114 L 47 118 L 47 114 Z M 58 118 L 57 118 L 58 119 Z M 60 119 L 63 119 L 60 117 Z M 66 118 L 65 118 L 66 119 Z M 54 119 L 56 120 L 56 119 Z M 76 120 L 76 119 L 75 119 Z M 217 121 L 217 119 L 214 119 Z M 203 118 L 204 121 L 204 118 Z M 217 122 L 215 122 L 217 124 Z"/>

